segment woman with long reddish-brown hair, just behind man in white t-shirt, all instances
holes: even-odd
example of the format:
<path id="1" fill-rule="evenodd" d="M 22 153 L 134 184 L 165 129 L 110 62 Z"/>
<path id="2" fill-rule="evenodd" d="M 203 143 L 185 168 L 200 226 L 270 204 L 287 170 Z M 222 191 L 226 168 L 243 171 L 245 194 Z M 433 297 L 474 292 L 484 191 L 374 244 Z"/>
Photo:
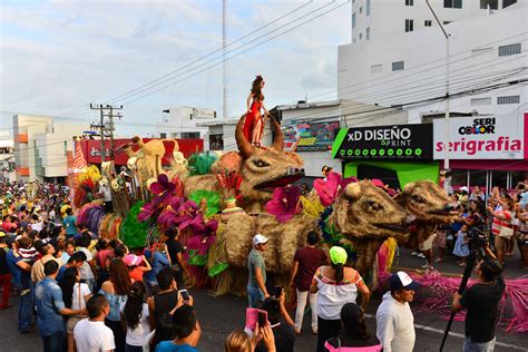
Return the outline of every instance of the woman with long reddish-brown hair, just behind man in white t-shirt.
<path id="1" fill-rule="evenodd" d="M 107 299 L 110 313 L 105 319 L 105 324 L 114 332 L 116 352 L 125 351 L 125 332 L 121 326 L 119 309 L 130 293 L 130 276 L 120 258 L 113 258 L 108 268 L 109 280 L 101 285 L 100 294 Z"/>

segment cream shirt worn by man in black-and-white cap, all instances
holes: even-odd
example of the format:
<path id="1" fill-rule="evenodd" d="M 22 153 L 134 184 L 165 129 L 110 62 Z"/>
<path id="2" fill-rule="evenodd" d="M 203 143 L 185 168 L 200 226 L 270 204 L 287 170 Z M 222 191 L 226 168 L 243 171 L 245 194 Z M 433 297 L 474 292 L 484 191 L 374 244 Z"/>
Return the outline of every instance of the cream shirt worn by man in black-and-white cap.
<path id="1" fill-rule="evenodd" d="M 383 352 L 412 352 L 414 348 L 414 316 L 409 303 L 400 303 L 390 292 L 375 313 L 375 335 L 381 341 Z"/>

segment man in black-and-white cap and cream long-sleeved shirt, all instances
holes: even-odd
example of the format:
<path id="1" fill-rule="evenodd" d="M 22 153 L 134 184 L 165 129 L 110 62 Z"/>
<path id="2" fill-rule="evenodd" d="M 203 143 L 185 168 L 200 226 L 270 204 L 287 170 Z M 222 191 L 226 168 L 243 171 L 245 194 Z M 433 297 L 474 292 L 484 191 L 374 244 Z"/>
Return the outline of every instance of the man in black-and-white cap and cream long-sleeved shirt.
<path id="1" fill-rule="evenodd" d="M 404 272 L 392 274 L 389 278 L 390 292 L 375 313 L 377 336 L 384 352 L 411 352 L 414 348 L 414 316 L 409 302 L 420 284 Z"/>

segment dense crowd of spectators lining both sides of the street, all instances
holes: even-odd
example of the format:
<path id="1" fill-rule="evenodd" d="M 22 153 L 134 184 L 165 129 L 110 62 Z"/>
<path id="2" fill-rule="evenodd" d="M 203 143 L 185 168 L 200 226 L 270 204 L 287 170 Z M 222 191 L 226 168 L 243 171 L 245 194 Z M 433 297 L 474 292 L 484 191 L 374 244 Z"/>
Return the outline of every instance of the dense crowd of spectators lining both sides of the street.
<path id="1" fill-rule="evenodd" d="M 38 330 L 43 351 L 199 350 L 202 329 L 185 290 L 192 274 L 177 228 L 144 248 L 128 248 L 79 224 L 65 186 L 10 183 L 0 189 L 0 310 L 11 306 L 11 295 L 19 296 L 20 333 Z M 462 295 L 453 293 L 452 300 L 454 311 L 467 310 L 465 351 L 493 350 L 505 256 L 517 246 L 519 265 L 528 267 L 527 189 L 528 184 L 519 184 L 511 193 L 493 188 L 485 195 L 479 187 L 459 188 L 452 195 L 460 204 L 459 219 L 438 226 L 413 252 L 427 260 L 424 268 L 446 261 L 448 253 L 466 265 L 471 238 L 482 238 L 479 283 Z M 306 246 L 294 256 L 291 287 L 282 287 L 266 277 L 265 233 L 252 241 L 246 323 L 225 338 L 225 351 L 293 351 L 307 304 L 316 351 L 413 350 L 409 303 L 420 284 L 407 273 L 390 276 L 377 307 L 377 329 L 369 331 L 364 311 L 371 292 L 360 273 L 346 266 L 344 248 L 325 252 L 319 235 L 309 233 Z M 286 309 L 286 290 L 296 296 L 295 312 Z"/>

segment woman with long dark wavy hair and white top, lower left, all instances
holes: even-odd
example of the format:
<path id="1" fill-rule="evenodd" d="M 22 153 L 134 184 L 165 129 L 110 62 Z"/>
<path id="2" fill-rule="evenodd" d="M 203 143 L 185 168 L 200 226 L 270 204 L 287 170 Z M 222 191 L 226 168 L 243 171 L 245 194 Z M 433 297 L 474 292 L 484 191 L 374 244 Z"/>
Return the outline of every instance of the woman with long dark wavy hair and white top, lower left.
<path id="1" fill-rule="evenodd" d="M 130 286 L 127 302 L 121 305 L 121 324 L 126 330 L 126 352 L 143 352 L 145 338 L 150 333 L 148 324 L 148 305 L 145 285 L 136 281 Z"/>

